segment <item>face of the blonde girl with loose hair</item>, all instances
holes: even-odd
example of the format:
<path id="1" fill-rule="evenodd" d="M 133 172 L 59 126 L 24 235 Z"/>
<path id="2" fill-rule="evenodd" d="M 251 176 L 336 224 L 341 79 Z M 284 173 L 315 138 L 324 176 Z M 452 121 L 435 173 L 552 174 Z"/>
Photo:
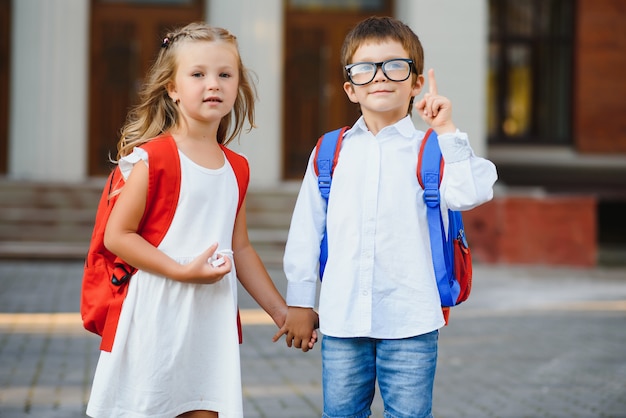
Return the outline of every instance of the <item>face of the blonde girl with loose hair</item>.
<path id="1" fill-rule="evenodd" d="M 178 47 L 178 67 L 168 86 L 187 123 L 219 123 L 230 113 L 239 89 L 239 55 L 221 41 L 188 41 Z"/>

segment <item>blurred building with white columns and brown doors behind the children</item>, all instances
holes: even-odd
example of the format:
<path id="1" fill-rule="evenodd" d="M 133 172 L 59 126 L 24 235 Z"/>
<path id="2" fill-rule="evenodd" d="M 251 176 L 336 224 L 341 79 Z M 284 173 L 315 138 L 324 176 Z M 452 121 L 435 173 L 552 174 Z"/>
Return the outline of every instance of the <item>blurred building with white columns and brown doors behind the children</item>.
<path id="1" fill-rule="evenodd" d="M 358 117 L 339 49 L 372 14 L 420 36 L 455 123 L 498 166 L 496 200 L 466 221 L 479 258 L 589 265 L 626 247 L 619 0 L 0 0 L 0 176 L 106 175 L 162 37 L 205 20 L 257 76 L 258 128 L 233 146 L 251 186 L 297 183 L 319 135 Z"/>

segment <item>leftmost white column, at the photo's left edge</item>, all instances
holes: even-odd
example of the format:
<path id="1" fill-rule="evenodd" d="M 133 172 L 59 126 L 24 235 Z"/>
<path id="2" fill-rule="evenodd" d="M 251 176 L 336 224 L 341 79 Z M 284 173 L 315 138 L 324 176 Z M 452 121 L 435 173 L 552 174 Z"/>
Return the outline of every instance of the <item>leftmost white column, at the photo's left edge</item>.
<path id="1" fill-rule="evenodd" d="M 12 3 L 8 176 L 86 175 L 89 2 Z"/>

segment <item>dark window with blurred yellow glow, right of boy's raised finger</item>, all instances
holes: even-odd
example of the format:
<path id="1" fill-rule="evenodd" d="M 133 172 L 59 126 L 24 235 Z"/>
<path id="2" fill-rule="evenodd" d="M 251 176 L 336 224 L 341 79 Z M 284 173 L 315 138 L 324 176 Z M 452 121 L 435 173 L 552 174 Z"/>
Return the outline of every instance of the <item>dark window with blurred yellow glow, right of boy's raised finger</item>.
<path id="1" fill-rule="evenodd" d="M 575 0 L 490 0 L 490 143 L 572 142 Z"/>

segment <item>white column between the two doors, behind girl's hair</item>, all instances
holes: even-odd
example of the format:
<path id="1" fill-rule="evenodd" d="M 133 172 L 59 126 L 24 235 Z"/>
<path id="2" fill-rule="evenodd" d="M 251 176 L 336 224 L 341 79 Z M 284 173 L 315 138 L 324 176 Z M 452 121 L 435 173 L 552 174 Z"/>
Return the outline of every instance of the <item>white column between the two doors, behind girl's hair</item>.
<path id="1" fill-rule="evenodd" d="M 207 22 L 237 36 L 244 65 L 258 76 L 257 128 L 231 147 L 250 161 L 250 187 L 275 186 L 282 176 L 283 2 L 209 1 Z"/>

